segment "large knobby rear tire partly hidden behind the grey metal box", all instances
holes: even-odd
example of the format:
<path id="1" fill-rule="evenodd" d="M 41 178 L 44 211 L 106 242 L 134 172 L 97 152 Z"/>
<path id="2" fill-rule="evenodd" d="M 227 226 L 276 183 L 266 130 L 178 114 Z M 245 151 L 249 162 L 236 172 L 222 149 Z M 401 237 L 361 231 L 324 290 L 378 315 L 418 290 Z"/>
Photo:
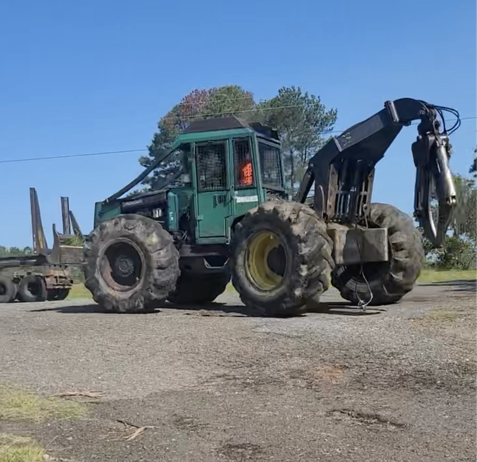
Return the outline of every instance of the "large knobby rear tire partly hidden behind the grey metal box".
<path id="1" fill-rule="evenodd" d="M 370 204 L 368 216 L 370 228 L 388 228 L 389 261 L 366 263 L 363 268 L 359 264 L 336 267 L 331 281 L 341 297 L 356 305 L 370 300 L 369 288 L 369 305 L 396 303 L 419 277 L 424 262 L 422 241 L 413 219 L 392 205 Z"/>

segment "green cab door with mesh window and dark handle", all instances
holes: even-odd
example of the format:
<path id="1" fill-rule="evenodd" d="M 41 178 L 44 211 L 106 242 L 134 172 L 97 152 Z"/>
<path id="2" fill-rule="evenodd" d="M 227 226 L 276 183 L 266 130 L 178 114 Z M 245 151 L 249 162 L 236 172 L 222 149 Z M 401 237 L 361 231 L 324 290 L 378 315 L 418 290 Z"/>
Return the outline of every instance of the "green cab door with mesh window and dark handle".
<path id="1" fill-rule="evenodd" d="M 227 140 L 195 145 L 198 238 L 228 237 L 231 215 Z M 216 239 L 214 239 L 215 241 Z"/>

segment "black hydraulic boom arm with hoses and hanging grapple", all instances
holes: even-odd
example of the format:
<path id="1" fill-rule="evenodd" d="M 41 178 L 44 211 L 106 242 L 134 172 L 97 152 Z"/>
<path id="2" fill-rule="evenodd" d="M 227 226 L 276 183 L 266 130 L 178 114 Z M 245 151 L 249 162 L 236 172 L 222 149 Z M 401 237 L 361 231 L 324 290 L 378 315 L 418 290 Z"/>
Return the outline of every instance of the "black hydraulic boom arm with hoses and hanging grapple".
<path id="1" fill-rule="evenodd" d="M 444 112 L 456 117 L 456 123 L 449 130 Z M 411 98 L 386 101 L 380 112 L 333 137 L 311 158 L 296 200 L 304 202 L 315 183 L 314 208 L 318 216 L 340 223 L 362 221 L 366 205 L 371 201 L 376 164 L 402 127 L 411 125 L 414 120 L 420 120 L 417 140 L 412 145 L 416 166 L 414 215 L 426 237 L 434 246 L 439 246 L 456 203 L 448 165 L 448 136 L 460 125 L 459 113 L 454 109 Z M 439 201 L 437 224 L 431 198 Z"/>

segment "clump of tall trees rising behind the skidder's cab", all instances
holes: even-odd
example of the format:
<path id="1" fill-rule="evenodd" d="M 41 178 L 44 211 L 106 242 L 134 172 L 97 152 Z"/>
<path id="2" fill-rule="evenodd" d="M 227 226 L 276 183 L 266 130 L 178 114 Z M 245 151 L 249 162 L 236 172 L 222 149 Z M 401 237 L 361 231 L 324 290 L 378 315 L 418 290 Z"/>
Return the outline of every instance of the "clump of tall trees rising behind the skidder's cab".
<path id="1" fill-rule="evenodd" d="M 326 110 L 319 97 L 301 88 L 283 87 L 278 95 L 256 103 L 251 92 L 239 85 L 226 85 L 208 90 L 194 90 L 159 120 L 148 147 L 149 155 L 139 159 L 147 167 L 172 147 L 177 134 L 194 118 L 235 115 L 248 121 L 259 121 L 279 130 L 286 149 L 287 180 L 301 178 L 303 166 L 322 146 L 324 135 L 333 129 L 336 110 Z M 158 178 L 168 169 L 162 165 L 144 183 L 154 189 Z M 137 193 L 135 191 L 134 193 Z"/>

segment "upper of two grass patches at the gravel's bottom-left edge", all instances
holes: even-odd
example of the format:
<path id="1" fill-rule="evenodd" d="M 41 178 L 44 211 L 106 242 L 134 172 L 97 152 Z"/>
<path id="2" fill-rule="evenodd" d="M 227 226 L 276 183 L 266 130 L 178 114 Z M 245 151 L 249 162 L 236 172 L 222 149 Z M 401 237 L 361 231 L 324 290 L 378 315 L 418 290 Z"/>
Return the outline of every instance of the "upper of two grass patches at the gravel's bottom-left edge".
<path id="1" fill-rule="evenodd" d="M 39 423 L 48 419 L 75 419 L 85 413 L 86 407 L 80 403 L 0 385 L 0 419 Z"/>

